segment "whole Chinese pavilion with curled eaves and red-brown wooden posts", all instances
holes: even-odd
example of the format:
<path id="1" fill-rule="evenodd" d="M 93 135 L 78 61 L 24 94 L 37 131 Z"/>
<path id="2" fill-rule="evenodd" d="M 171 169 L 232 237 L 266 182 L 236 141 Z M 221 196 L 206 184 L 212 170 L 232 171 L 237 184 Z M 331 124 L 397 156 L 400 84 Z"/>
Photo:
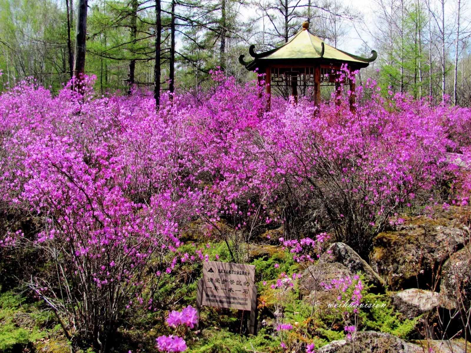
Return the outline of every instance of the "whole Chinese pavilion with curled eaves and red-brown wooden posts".
<path id="1" fill-rule="evenodd" d="M 265 74 L 266 93 L 271 88 L 283 96 L 313 96 L 315 104 L 320 103 L 321 86 L 335 86 L 339 92 L 340 85 L 350 86 L 350 106 L 355 103 L 355 83 L 349 75 L 341 75 L 341 68 L 346 64 L 349 71 L 364 68 L 376 59 L 376 52 L 371 51 L 370 58 L 349 54 L 343 50 L 325 44 L 320 38 L 309 32 L 309 23 L 304 22 L 302 29 L 284 45 L 257 54 L 255 45 L 249 53 L 250 62 L 239 56 L 239 62 L 247 70 Z M 346 78 L 345 78 L 346 77 Z M 259 76 L 259 82 L 262 77 Z M 268 98 L 269 106 L 269 98 Z"/>

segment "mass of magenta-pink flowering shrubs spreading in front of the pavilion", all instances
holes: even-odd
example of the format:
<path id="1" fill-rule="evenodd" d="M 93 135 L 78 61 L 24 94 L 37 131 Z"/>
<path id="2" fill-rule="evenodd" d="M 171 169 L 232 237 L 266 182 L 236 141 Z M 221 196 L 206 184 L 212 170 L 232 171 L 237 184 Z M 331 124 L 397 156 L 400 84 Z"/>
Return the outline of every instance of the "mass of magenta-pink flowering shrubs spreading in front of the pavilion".
<path id="1" fill-rule="evenodd" d="M 195 226 L 236 262 L 250 255 L 244 243 L 282 227 L 284 247 L 309 264 L 325 229 L 365 256 L 391 215 L 443 201 L 444 180 L 455 181 L 447 201 L 469 197 L 468 176 L 446 163 L 447 150 L 469 154 L 467 109 L 375 93 L 355 113 L 303 99 L 265 112 L 260 88 L 214 80 L 197 99 L 163 98 L 159 112 L 150 96 L 97 97 L 87 82 L 57 96 L 24 82 L 0 96 L 0 211 L 35 217 L 34 246 L 55 270 L 29 284 L 67 337 L 104 352 L 123 316 L 157 310 L 162 279 L 204 260 L 179 251 Z M 23 237 L 21 222 L 0 227 L 1 249 Z M 282 297 L 294 280 L 273 290 Z M 169 324 L 191 327 L 190 312 L 177 316 Z"/>

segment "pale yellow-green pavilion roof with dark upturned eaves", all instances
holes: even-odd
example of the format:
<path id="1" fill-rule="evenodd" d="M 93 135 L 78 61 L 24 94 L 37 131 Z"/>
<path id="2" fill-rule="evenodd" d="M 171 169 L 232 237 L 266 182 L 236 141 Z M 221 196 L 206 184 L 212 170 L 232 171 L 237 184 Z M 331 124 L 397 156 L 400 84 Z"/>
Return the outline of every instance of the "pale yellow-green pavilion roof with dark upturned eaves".
<path id="1" fill-rule="evenodd" d="M 310 33 L 308 26 L 309 24 L 307 23 L 303 24 L 303 28 L 288 42 L 272 50 L 258 54 L 255 53 L 253 50 L 255 46 L 252 45 L 249 52 L 254 57 L 254 60 L 246 63 L 243 60 L 244 56 L 241 56 L 239 61 L 248 70 L 252 70 L 257 65 L 267 66 L 269 62 L 289 61 L 295 63 L 298 59 L 303 62 L 310 61 L 309 59 L 317 59 L 316 61 L 323 63 L 346 63 L 352 64 L 351 66 L 366 67 L 376 59 L 377 54 L 374 50 L 371 52 L 373 54 L 372 57 L 364 58 L 327 45 L 319 37 Z"/>

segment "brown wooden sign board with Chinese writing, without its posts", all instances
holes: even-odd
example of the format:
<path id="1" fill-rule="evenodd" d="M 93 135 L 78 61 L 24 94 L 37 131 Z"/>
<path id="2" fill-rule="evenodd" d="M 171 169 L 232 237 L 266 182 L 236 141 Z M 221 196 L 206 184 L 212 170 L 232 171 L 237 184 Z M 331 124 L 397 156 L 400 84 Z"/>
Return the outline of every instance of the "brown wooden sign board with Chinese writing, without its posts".
<path id="1" fill-rule="evenodd" d="M 227 262 L 203 262 L 202 305 L 252 310 L 255 266 Z M 255 309 L 255 308 L 253 308 Z"/>

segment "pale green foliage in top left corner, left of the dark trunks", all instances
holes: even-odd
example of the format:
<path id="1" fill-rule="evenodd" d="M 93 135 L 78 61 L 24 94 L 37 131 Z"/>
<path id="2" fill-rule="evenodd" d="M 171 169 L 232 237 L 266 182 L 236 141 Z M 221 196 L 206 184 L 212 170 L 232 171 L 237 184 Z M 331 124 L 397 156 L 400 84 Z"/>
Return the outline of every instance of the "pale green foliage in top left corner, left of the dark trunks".
<path id="1" fill-rule="evenodd" d="M 69 80 L 66 14 L 51 0 L 0 0 L 0 90 L 33 76 L 56 91 Z"/>

